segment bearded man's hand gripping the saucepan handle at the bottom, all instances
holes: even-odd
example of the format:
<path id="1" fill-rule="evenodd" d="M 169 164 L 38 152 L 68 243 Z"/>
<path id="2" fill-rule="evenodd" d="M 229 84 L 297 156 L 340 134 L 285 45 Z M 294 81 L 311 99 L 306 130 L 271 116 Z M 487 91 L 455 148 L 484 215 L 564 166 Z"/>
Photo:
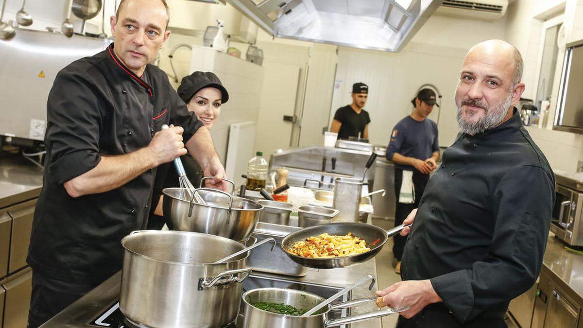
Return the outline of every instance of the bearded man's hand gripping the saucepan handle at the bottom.
<path id="1" fill-rule="evenodd" d="M 382 296 L 382 302 L 389 308 L 409 306 L 405 312 L 401 312 L 407 319 L 417 315 L 423 308 L 432 303 L 441 302 L 441 298 L 431 285 L 429 280 L 407 280 L 377 291 Z"/>

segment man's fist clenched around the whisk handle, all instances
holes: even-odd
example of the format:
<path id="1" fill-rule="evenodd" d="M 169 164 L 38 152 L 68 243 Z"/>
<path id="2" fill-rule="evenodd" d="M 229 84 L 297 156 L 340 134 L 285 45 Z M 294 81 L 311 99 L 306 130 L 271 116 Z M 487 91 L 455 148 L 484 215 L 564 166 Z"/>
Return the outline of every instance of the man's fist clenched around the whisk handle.
<path id="1" fill-rule="evenodd" d="M 182 127 L 175 127 L 171 125 L 166 130 L 161 130 L 154 134 L 152 141 L 147 146 L 149 149 L 155 166 L 170 162 L 178 156 L 186 155 L 186 148 L 182 143 Z"/>

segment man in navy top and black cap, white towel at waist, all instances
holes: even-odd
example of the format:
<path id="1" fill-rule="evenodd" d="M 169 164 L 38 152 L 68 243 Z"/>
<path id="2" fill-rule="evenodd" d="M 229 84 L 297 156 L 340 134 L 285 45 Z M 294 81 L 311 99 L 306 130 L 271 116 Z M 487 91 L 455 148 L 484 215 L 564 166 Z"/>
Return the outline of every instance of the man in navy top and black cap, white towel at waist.
<path id="1" fill-rule="evenodd" d="M 440 156 L 437 124 L 427 118 L 437 105 L 436 93 L 422 89 L 411 103 L 415 106 L 413 112 L 395 125 L 387 147 L 387 159 L 395 163 L 395 226 L 401 225 L 413 208 L 419 206 L 429 173 L 437 168 Z M 395 272 L 401 273 L 405 237 L 397 235 L 394 242 Z"/>

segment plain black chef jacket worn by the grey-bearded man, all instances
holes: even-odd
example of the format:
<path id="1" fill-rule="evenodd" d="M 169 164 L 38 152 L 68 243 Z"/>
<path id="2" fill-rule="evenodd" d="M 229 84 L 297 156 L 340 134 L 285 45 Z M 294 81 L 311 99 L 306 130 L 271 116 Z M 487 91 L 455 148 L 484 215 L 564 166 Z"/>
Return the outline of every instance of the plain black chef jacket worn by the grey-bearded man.
<path id="1" fill-rule="evenodd" d="M 416 317 L 432 320 L 442 306 L 469 326 L 502 320 L 539 275 L 554 197 L 552 170 L 517 109 L 496 128 L 458 135 L 405 244 L 403 280 L 430 279 L 443 300 Z"/>

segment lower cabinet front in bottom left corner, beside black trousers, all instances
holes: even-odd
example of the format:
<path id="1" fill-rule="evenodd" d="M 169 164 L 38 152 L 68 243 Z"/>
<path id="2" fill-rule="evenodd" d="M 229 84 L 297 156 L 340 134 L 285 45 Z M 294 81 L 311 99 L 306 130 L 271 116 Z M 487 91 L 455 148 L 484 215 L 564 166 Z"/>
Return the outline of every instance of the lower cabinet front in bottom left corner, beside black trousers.
<path id="1" fill-rule="evenodd" d="M 8 276 L 1 282 L 1 288 L 6 291 L 2 328 L 26 327 L 29 317 L 32 278 L 31 268 L 26 268 Z"/>

